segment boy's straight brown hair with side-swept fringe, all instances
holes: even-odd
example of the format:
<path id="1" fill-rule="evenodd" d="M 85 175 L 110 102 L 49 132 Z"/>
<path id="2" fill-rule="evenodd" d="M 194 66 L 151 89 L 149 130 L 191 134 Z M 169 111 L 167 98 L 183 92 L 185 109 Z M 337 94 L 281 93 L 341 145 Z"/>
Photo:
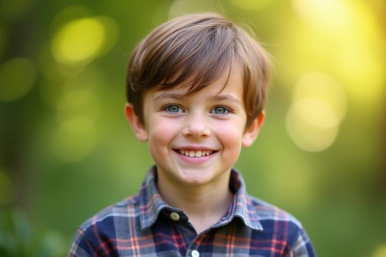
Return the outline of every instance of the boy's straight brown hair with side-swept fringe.
<path id="1" fill-rule="evenodd" d="M 159 90 L 183 83 L 186 95 L 194 94 L 226 70 L 229 79 L 233 62 L 241 64 L 244 74 L 248 126 L 264 107 L 270 77 L 268 54 L 243 29 L 218 14 L 175 18 L 144 38 L 129 61 L 127 100 L 143 122 L 144 89 Z"/>

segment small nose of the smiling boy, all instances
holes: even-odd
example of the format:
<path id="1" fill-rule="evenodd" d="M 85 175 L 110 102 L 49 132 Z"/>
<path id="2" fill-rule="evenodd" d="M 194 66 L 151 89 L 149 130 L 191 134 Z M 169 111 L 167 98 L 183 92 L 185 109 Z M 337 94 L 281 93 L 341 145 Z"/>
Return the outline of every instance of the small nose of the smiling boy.
<path id="1" fill-rule="evenodd" d="M 201 113 L 189 113 L 182 129 L 185 137 L 206 138 L 211 135 L 207 117 Z"/>

